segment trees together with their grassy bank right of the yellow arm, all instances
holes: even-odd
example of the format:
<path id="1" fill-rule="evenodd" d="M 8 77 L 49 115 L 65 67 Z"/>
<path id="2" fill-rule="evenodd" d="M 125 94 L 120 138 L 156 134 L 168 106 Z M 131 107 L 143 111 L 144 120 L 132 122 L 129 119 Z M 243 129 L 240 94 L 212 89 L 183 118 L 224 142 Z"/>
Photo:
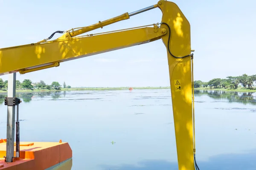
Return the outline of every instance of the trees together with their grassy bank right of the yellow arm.
<path id="1" fill-rule="evenodd" d="M 253 82 L 256 82 L 256 74 L 248 76 L 243 74 L 242 76 L 232 77 L 228 76 L 227 79 L 215 78 L 209 82 L 202 82 L 201 80 L 194 81 L 194 88 L 198 90 L 222 90 L 222 91 L 241 91 L 241 92 L 253 92 L 256 91 L 256 87 L 253 87 Z"/>

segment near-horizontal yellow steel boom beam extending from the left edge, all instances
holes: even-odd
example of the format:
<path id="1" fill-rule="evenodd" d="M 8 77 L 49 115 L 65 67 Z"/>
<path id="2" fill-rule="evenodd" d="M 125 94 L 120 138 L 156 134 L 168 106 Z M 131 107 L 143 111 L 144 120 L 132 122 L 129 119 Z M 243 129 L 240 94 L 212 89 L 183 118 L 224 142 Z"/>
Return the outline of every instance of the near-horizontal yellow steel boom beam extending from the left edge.
<path id="1" fill-rule="evenodd" d="M 160 39 L 165 28 L 146 27 L 91 37 L 74 37 L 0 49 L 0 75 L 47 68 L 58 62 L 87 57 Z M 58 66 L 57 64 L 55 66 Z M 48 66 L 49 67 L 49 66 Z"/>

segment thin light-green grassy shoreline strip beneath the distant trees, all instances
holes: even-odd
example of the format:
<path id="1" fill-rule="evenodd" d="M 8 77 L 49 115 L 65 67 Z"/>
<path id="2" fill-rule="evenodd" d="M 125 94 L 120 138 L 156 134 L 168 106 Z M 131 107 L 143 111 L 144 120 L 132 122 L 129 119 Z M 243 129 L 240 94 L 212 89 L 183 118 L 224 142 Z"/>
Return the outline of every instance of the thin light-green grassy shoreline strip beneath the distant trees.
<path id="1" fill-rule="evenodd" d="M 170 89 L 170 87 L 134 87 L 136 89 Z M 105 91 L 105 90 L 129 90 L 129 87 L 87 87 L 87 88 L 61 88 L 61 90 L 47 90 L 47 89 L 33 89 L 33 90 L 16 90 L 17 93 L 44 93 L 44 92 L 55 92 L 55 91 Z M 250 90 L 246 88 L 238 89 L 225 89 L 225 88 L 195 88 L 195 90 L 205 90 L 205 91 L 230 91 L 230 92 L 256 92 L 256 89 Z M 7 93 L 7 90 L 0 90 L 0 94 Z"/>

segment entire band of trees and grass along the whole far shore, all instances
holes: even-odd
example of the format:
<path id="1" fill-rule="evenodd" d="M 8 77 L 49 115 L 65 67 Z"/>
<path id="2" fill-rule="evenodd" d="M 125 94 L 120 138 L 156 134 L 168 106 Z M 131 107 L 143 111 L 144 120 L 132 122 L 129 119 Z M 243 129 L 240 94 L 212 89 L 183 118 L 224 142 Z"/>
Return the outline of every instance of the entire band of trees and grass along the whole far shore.
<path id="1" fill-rule="evenodd" d="M 248 76 L 243 74 L 242 76 L 232 77 L 228 76 L 226 79 L 215 78 L 209 82 L 202 82 L 201 80 L 194 81 L 195 90 L 218 90 L 218 91 L 237 91 L 237 92 L 256 92 L 256 87 L 253 86 L 253 82 L 256 82 L 256 74 Z M 8 88 L 8 81 L 3 81 L 0 78 L 0 93 L 6 92 Z M 63 82 L 61 87 L 59 82 L 52 82 L 47 85 L 43 80 L 40 82 L 34 82 L 30 79 L 24 79 L 23 82 L 16 80 L 17 92 L 47 92 L 47 91 L 86 91 L 86 90 L 128 90 L 129 87 L 78 87 L 71 88 L 70 85 L 66 85 Z M 133 87 L 133 89 L 170 89 L 170 87 Z"/>

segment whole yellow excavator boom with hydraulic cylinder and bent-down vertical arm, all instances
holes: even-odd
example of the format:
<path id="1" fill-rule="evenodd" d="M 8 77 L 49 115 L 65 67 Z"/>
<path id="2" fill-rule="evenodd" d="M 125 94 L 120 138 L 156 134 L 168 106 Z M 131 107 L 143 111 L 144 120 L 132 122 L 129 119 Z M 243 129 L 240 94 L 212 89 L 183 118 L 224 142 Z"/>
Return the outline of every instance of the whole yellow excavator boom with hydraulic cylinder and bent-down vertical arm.
<path id="1" fill-rule="evenodd" d="M 127 20 L 131 16 L 160 8 L 161 23 L 152 26 L 128 28 L 99 34 L 81 35 L 103 26 Z M 49 38 L 37 43 L 0 49 L 0 75 L 20 72 L 26 74 L 45 68 L 57 67 L 61 62 L 79 59 L 134 45 L 162 40 L 166 46 L 175 124 L 179 170 L 195 170 L 194 125 L 192 107 L 192 58 L 190 25 L 180 8 L 172 2 L 160 0 L 156 5 L 133 13 L 74 28 L 56 40 Z"/>

